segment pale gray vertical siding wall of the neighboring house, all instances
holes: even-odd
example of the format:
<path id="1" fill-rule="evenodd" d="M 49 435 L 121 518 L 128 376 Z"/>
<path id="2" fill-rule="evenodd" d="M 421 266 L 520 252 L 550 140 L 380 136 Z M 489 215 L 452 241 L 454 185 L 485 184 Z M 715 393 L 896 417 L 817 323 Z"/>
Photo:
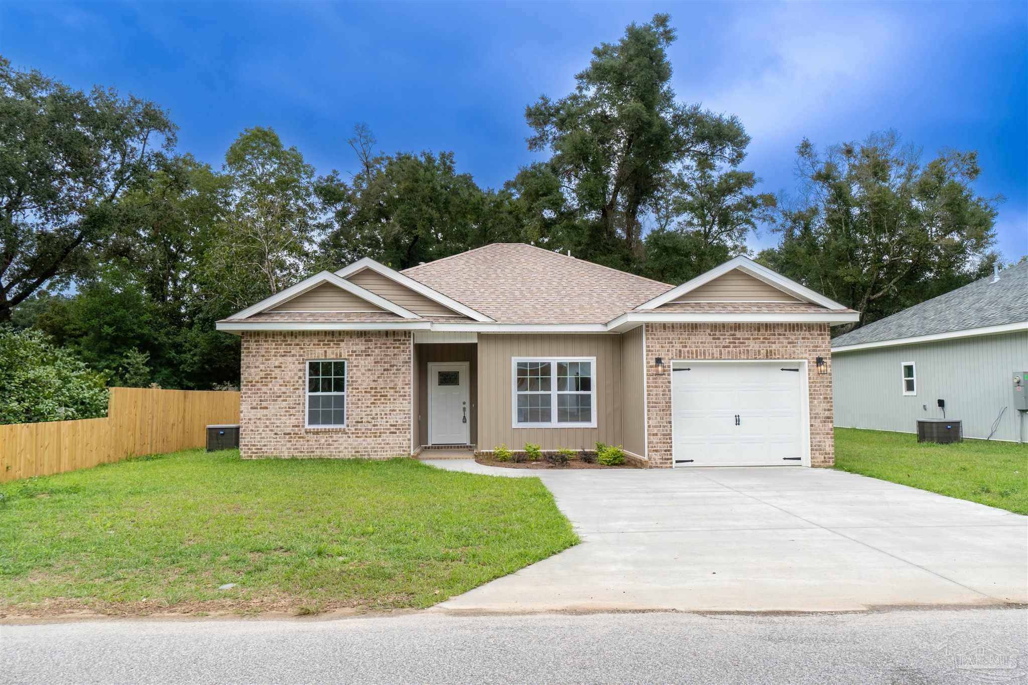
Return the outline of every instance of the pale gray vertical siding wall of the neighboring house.
<path id="1" fill-rule="evenodd" d="M 902 365 L 913 361 L 916 395 L 903 393 Z M 836 352 L 832 355 L 835 425 L 916 432 L 917 419 L 963 422 L 965 437 L 987 437 L 1006 407 L 992 440 L 1018 440 L 1014 372 L 1028 371 L 1028 331 L 917 345 Z M 1028 441 L 1028 417 L 1022 427 Z"/>

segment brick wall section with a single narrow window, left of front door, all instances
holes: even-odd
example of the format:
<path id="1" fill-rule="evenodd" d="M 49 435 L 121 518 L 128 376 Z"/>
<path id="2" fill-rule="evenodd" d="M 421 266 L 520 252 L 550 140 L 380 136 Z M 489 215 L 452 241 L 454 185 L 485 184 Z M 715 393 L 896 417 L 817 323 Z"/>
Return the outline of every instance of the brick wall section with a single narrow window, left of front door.
<path id="1" fill-rule="evenodd" d="M 243 334 L 244 457 L 409 456 L 411 337 L 406 331 Z M 305 428 L 305 363 L 346 360 L 346 426 Z"/>

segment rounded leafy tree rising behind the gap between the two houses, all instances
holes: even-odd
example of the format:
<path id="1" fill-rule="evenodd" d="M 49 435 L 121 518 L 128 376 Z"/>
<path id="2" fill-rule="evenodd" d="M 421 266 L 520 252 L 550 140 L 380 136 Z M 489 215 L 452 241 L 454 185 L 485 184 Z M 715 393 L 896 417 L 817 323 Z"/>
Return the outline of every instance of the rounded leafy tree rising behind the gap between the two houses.
<path id="1" fill-rule="evenodd" d="M 819 153 L 797 147 L 805 196 L 782 208 L 781 242 L 761 253 L 776 271 L 861 312 L 860 325 L 992 269 L 999 197 L 976 194 L 975 152 L 922 163 L 895 131 Z"/>

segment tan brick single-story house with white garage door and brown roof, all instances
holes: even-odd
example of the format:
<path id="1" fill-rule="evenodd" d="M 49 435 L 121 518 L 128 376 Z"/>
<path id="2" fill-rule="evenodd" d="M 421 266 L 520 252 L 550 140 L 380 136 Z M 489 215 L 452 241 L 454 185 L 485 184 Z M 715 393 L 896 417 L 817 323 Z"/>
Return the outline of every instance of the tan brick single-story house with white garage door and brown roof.
<path id="1" fill-rule="evenodd" d="M 833 463 L 829 327 L 858 314 L 738 257 L 681 286 L 528 244 L 362 259 L 218 322 L 245 457 L 621 445 L 641 466 Z"/>

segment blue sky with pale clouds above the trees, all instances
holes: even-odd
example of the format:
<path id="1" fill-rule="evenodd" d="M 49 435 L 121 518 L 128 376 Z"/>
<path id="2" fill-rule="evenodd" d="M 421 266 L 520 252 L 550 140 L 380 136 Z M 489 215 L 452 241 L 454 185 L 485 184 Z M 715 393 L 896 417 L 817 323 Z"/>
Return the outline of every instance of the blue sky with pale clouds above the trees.
<path id="1" fill-rule="evenodd" d="M 0 0 L 0 53 L 78 87 L 156 101 L 179 148 L 219 166 L 271 126 L 319 172 L 355 170 L 345 140 L 452 150 L 497 187 L 533 159 L 524 106 L 566 94 L 600 41 L 666 11 L 680 100 L 737 114 L 745 162 L 794 191 L 794 150 L 895 128 L 924 157 L 975 149 L 1002 194 L 998 249 L 1028 254 L 1028 4 L 135 3 Z M 771 244 L 762 231 L 754 246 Z"/>

